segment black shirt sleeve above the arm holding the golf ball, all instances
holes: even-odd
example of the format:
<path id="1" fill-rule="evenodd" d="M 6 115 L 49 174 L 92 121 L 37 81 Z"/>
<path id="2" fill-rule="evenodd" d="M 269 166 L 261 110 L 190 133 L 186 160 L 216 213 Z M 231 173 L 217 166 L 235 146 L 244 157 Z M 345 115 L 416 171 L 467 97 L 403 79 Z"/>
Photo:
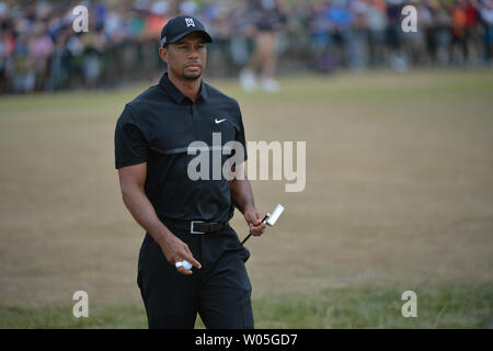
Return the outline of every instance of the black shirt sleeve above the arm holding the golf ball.
<path id="1" fill-rule="evenodd" d="M 148 145 L 137 120 L 127 104 L 115 128 L 115 168 L 147 162 Z"/>

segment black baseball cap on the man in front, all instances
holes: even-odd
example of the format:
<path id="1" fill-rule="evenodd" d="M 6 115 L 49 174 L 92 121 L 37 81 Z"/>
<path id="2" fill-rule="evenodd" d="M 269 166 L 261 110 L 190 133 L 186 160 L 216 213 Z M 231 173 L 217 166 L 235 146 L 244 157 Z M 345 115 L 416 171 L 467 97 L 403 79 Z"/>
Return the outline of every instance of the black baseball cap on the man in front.
<path id="1" fill-rule="evenodd" d="M 168 21 L 162 27 L 161 46 L 164 47 L 170 43 L 175 43 L 193 32 L 200 32 L 204 35 L 206 43 L 213 42 L 213 38 L 200 21 L 191 15 L 179 15 Z"/>

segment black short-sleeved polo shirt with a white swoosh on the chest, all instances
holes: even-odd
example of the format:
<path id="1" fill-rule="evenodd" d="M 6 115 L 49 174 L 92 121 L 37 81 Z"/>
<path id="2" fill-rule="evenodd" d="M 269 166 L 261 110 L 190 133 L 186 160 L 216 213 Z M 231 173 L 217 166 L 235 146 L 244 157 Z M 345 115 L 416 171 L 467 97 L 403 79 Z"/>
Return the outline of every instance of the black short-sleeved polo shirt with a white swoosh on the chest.
<path id="1" fill-rule="evenodd" d="M 227 222 L 234 208 L 223 174 L 218 180 L 187 176 L 188 162 L 197 157 L 187 154 L 188 145 L 204 141 L 211 147 L 213 133 L 220 133 L 222 146 L 241 143 L 246 159 L 238 102 L 204 80 L 193 102 L 164 73 L 159 84 L 125 105 L 115 129 L 115 168 L 147 162 L 145 190 L 159 216 Z M 210 174 L 213 152 L 208 152 Z M 221 163 L 229 157 L 221 155 Z"/>

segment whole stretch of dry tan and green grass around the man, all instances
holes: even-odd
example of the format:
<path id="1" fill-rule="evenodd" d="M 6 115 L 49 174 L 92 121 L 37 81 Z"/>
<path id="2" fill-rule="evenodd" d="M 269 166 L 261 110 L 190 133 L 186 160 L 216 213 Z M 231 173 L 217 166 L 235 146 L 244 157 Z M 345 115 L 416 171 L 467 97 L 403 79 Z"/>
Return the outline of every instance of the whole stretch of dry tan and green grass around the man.
<path id="1" fill-rule="evenodd" d="M 211 81 L 239 101 L 248 140 L 307 143 L 302 192 L 252 181 L 260 211 L 286 207 L 246 244 L 256 326 L 490 322 L 492 71 L 280 82 L 266 94 Z M 136 284 L 145 233 L 122 202 L 113 133 L 151 83 L 0 98 L 0 327 L 146 327 Z M 248 234 L 238 212 L 233 227 Z M 92 320 L 71 317 L 80 290 Z M 406 290 L 417 294 L 414 320 L 401 315 Z"/>

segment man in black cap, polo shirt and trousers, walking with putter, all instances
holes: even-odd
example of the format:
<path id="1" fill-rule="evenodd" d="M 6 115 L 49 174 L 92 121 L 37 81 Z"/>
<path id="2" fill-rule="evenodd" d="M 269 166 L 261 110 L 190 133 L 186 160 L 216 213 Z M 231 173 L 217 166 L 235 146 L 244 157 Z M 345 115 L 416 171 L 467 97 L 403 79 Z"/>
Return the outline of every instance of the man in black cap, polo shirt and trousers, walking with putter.
<path id="1" fill-rule="evenodd" d="M 246 160 L 238 102 L 200 78 L 210 42 L 197 19 L 170 20 L 159 49 L 168 72 L 127 103 L 116 124 L 115 166 L 123 201 L 147 231 L 137 283 L 149 328 L 193 328 L 197 313 L 207 328 L 253 328 L 252 287 L 244 267 L 250 252 L 228 224 L 236 206 L 250 233 L 260 236 L 265 229 L 250 182 L 241 177 L 243 162 L 231 167 L 237 174 L 232 180 L 222 171 L 218 178 L 213 161 L 206 166 L 216 177 L 190 177 L 197 157 L 190 152 L 193 141 L 207 145 L 200 152 L 210 154 L 210 160 L 219 152 L 221 168 L 228 141 L 240 143 Z M 186 269 L 184 260 L 193 268 Z"/>

